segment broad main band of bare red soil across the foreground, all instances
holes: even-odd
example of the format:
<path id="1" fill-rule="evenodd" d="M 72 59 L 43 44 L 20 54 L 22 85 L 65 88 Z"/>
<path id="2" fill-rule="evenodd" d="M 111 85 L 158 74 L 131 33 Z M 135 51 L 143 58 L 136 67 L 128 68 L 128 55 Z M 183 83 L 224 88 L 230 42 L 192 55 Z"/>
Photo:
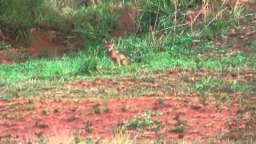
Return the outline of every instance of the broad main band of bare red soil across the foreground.
<path id="1" fill-rule="evenodd" d="M 94 105 L 103 107 L 99 99 L 16 99 L 0 102 L 0 140 L 10 137 L 31 138 L 37 134 L 47 136 L 54 130 L 63 129 L 77 131 L 82 138 L 110 138 L 118 122 L 130 120 L 146 110 L 162 113 L 159 117 L 154 116 L 155 120 L 162 122 L 162 129 L 138 136 L 137 139 L 178 139 L 178 134 L 170 132 L 170 129 L 177 122 L 176 114 L 179 114 L 180 120 L 185 122 L 184 138 L 200 140 L 229 132 L 229 126 L 238 111 L 237 105 L 221 105 L 219 108 L 222 110 L 217 110 L 213 103 L 202 106 L 195 95 L 183 98 L 166 95 L 161 104 L 156 99 L 145 96 L 108 100 L 106 104 L 110 112 L 105 114 L 94 114 Z M 31 106 L 33 108 L 29 108 Z M 124 111 L 123 106 L 129 109 Z M 86 131 L 86 126 L 90 126 L 90 132 Z M 132 137 L 135 136 L 135 129 L 128 131 Z"/>

